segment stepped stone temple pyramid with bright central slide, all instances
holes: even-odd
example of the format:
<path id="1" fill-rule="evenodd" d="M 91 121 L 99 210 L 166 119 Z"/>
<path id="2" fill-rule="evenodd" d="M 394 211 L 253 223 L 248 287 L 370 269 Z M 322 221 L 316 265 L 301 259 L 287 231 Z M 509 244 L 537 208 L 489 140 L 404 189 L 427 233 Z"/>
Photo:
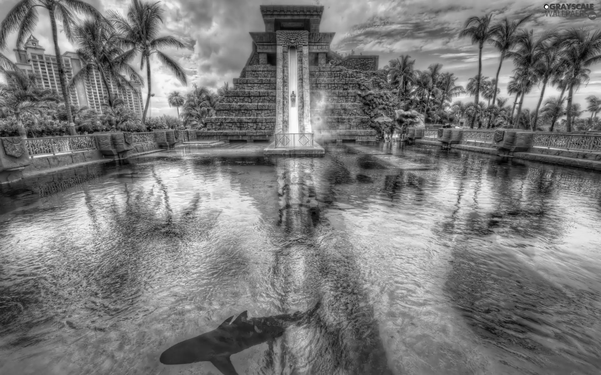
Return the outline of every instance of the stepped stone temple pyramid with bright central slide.
<path id="1" fill-rule="evenodd" d="M 331 51 L 335 33 L 319 29 L 323 6 L 260 10 L 265 31 L 250 33 L 252 53 L 198 139 L 272 140 L 271 148 L 315 146 L 322 153 L 317 142 L 375 140 L 359 90 L 377 71 L 378 56 Z"/>

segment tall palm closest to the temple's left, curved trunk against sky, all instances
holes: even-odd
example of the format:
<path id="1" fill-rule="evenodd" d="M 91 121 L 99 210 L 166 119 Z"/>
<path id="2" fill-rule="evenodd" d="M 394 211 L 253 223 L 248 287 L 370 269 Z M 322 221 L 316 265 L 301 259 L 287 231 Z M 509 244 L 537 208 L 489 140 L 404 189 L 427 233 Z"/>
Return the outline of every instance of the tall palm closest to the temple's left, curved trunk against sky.
<path id="1" fill-rule="evenodd" d="M 162 62 L 175 77 L 182 83 L 188 85 L 186 73 L 182 66 L 161 52 L 165 47 L 183 48 L 182 42 L 174 37 L 159 37 L 160 23 L 163 22 L 163 13 L 165 11 L 160 6 L 160 2 L 146 2 L 143 0 L 132 0 L 132 4 L 127 8 L 127 19 L 116 11 L 110 11 L 109 17 L 114 20 L 115 26 L 125 35 L 124 44 L 133 47 L 141 53 L 140 68 L 144 69 L 146 65 L 146 75 L 148 80 L 148 95 L 144 112 L 142 112 L 142 123 L 146 120 L 146 112 L 151 97 L 151 78 L 150 78 L 150 56 L 156 54 L 159 61 Z"/>

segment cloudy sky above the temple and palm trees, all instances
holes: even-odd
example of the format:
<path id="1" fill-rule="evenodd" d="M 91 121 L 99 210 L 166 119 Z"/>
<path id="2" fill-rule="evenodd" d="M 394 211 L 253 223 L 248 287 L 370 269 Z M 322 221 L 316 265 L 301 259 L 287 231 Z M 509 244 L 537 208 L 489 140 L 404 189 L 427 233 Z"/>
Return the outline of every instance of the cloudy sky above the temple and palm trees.
<path id="1" fill-rule="evenodd" d="M 117 9 L 126 13 L 129 0 L 87 0 L 99 10 Z M 0 0 L 0 17 L 16 4 L 17 0 Z M 601 2 L 594 3 L 595 10 Z M 460 30 L 469 16 L 493 13 L 493 20 L 504 17 L 517 19 L 534 14 L 526 27 L 540 33 L 551 28 L 599 29 L 601 20 L 566 19 L 546 17 L 545 0 L 164 0 L 165 34 L 179 38 L 184 50 L 167 51 L 188 70 L 188 86 L 182 86 L 158 61 L 151 61 L 153 74 L 152 115 L 163 113 L 175 115 L 169 108 L 166 97 L 171 91 L 186 92 L 192 83 L 216 89 L 224 82 L 232 83 L 238 77 L 251 53 L 252 42 L 249 31 L 264 31 L 259 5 L 316 4 L 323 5 L 323 32 L 336 32 L 332 49 L 339 53 L 362 52 L 364 55 L 380 55 L 380 68 L 401 54 L 415 59 L 415 67 L 425 69 L 433 62 L 443 64 L 444 71 L 459 77 L 458 83 L 465 86 L 468 78 L 475 76 L 478 69 L 478 49 L 468 38 L 459 39 Z M 49 18 L 41 11 L 35 37 L 47 53 L 53 53 Z M 16 36 L 13 37 L 13 40 Z M 61 52 L 74 50 L 64 38 L 59 37 Z M 11 42 L 11 46 L 14 43 Z M 12 51 L 5 54 L 13 57 Z M 499 53 L 492 47 L 483 50 L 483 74 L 494 77 L 499 64 Z M 504 61 L 499 76 L 501 97 L 508 97 L 507 82 L 513 64 Z M 143 74 L 145 76 L 145 74 Z M 143 89 L 145 90 L 145 88 Z M 547 89 L 547 95 L 558 95 L 559 91 Z M 590 82 L 576 93 L 575 101 L 586 106 L 584 98 L 595 94 L 601 96 L 601 65 L 591 68 Z M 525 107 L 533 108 L 540 91 L 532 90 L 524 101 Z M 469 100 L 459 97 L 456 100 Z M 473 100 L 473 98 L 472 98 Z"/>

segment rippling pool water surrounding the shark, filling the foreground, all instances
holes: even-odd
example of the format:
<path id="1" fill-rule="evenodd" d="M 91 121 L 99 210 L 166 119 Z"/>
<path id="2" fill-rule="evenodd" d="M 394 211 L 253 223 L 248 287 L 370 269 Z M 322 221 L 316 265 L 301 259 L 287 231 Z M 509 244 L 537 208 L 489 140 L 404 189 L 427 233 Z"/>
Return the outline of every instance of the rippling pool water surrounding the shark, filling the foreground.
<path id="1" fill-rule="evenodd" d="M 215 375 L 158 358 L 321 299 L 238 373 L 599 374 L 599 173 L 328 151 L 180 149 L 2 187 L 0 373 Z"/>

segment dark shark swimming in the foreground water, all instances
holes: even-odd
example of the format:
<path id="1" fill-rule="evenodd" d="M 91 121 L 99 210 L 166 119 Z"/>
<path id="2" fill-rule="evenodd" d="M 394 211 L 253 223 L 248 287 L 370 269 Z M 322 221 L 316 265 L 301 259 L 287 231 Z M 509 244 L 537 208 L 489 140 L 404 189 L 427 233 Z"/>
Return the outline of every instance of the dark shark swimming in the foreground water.
<path id="1" fill-rule="evenodd" d="M 238 375 L 230 356 L 251 346 L 265 343 L 284 334 L 286 328 L 308 320 L 320 307 L 320 302 L 308 311 L 293 314 L 249 318 L 244 311 L 236 319 L 225 319 L 213 331 L 175 344 L 160 355 L 165 365 L 209 361 L 224 375 Z"/>

